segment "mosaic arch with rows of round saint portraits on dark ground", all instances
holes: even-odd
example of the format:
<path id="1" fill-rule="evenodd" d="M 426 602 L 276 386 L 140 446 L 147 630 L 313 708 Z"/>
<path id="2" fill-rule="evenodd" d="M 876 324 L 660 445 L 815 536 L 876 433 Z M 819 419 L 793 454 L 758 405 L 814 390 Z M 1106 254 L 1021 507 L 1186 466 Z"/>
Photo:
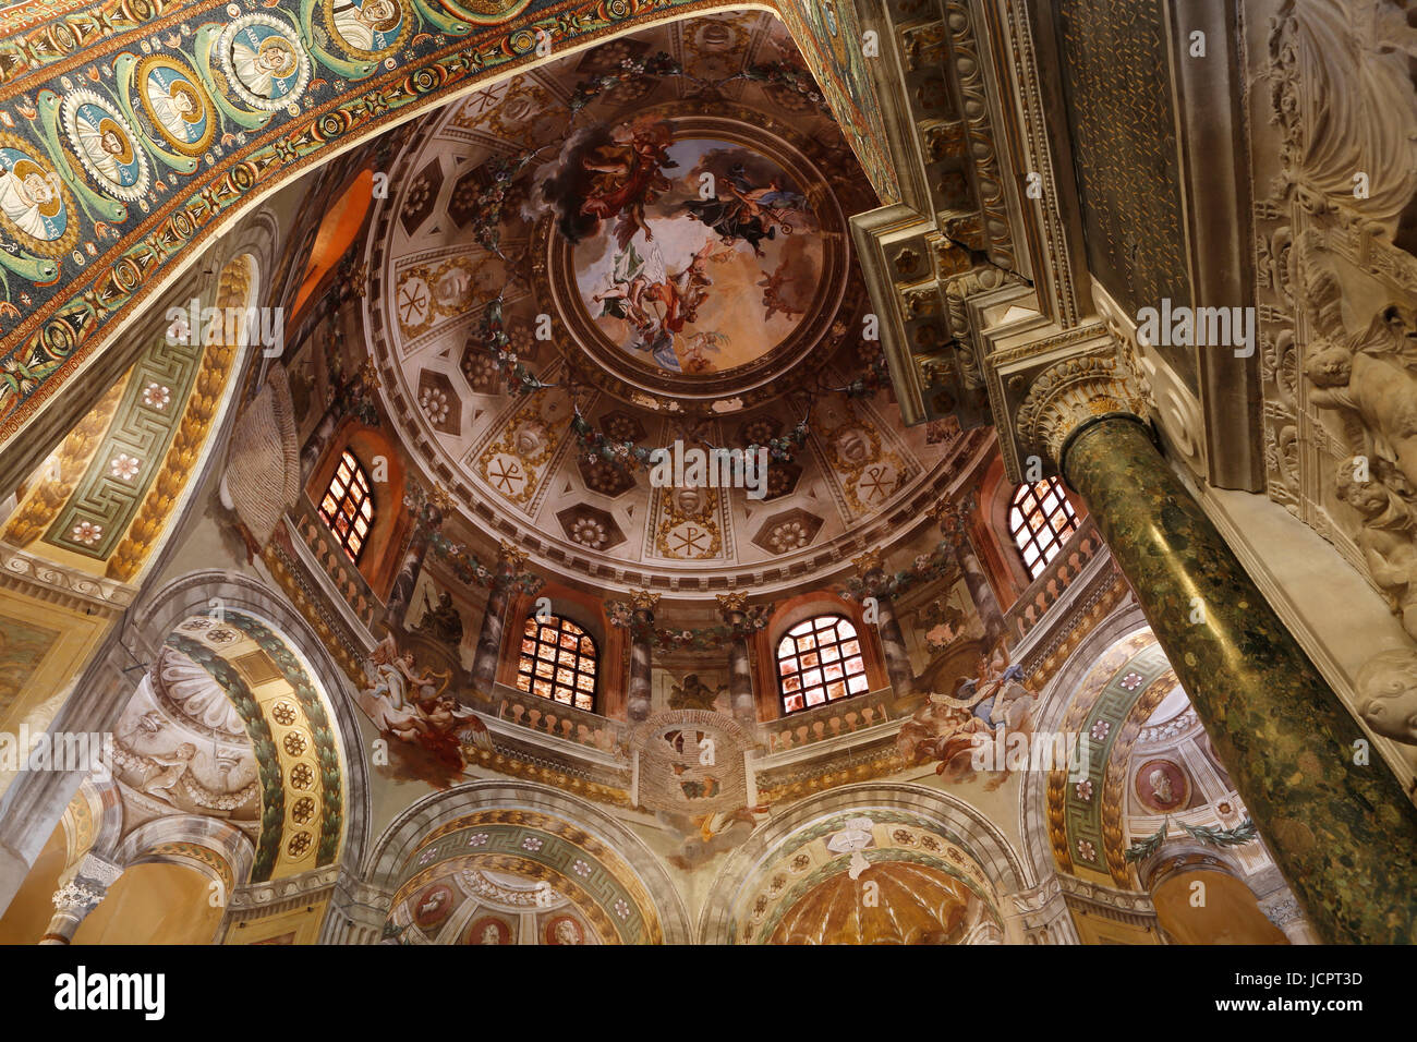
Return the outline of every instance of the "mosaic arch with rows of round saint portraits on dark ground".
<path id="1" fill-rule="evenodd" d="M 188 250 L 329 149 L 502 69 L 544 62 L 548 50 L 711 6 L 9 7 L 0 17 L 10 40 L 0 55 L 0 438 L 9 441 Z M 812 31 L 795 7 L 791 17 L 799 33 Z M 811 48 L 808 61 L 832 84 L 830 103 L 849 116 L 877 187 L 891 193 L 860 60 Z"/>

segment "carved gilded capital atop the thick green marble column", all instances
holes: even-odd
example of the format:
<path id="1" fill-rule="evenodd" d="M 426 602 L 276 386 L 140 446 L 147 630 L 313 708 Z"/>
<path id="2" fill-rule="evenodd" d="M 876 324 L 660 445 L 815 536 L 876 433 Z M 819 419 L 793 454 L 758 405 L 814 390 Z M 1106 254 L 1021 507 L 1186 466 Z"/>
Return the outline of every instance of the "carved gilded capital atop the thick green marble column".
<path id="1" fill-rule="evenodd" d="M 1064 359 L 1033 379 L 1015 430 L 1022 447 L 1057 466 L 1068 437 L 1088 420 L 1146 413 L 1142 386 L 1121 359 L 1085 354 Z"/>

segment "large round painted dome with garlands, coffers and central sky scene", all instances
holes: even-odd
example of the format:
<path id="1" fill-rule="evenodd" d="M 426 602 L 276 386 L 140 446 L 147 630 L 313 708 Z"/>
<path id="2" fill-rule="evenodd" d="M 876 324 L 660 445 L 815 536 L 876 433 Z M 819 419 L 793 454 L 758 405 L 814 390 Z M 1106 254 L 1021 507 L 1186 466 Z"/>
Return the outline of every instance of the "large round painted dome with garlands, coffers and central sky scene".
<path id="1" fill-rule="evenodd" d="M 876 198 L 796 61 L 767 14 L 674 23 L 410 135 L 367 332 L 405 444 L 479 525 L 691 591 L 829 568 L 938 499 L 958 432 L 898 422 L 846 225 Z M 667 488 L 646 459 L 674 445 L 771 465 Z"/>

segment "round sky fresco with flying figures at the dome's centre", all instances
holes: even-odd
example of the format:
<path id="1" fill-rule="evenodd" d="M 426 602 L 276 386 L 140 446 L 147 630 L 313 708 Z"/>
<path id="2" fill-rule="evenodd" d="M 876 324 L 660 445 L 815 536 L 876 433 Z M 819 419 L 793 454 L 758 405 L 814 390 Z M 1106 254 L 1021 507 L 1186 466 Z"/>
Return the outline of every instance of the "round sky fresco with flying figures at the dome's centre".
<path id="1" fill-rule="evenodd" d="M 577 244 L 587 313 L 652 370 L 754 363 L 815 306 L 823 251 L 812 204 L 752 147 L 676 139 L 653 118 L 595 128 L 563 153 L 546 194 Z"/>

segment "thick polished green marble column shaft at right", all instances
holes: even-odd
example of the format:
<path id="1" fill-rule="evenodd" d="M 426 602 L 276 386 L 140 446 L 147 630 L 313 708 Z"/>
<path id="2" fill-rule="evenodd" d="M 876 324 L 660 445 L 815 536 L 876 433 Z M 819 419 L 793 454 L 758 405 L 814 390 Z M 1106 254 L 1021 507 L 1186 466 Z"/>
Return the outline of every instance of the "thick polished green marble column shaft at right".
<path id="1" fill-rule="evenodd" d="M 1058 455 L 1319 936 L 1417 941 L 1417 812 L 1148 430 L 1104 415 Z"/>

